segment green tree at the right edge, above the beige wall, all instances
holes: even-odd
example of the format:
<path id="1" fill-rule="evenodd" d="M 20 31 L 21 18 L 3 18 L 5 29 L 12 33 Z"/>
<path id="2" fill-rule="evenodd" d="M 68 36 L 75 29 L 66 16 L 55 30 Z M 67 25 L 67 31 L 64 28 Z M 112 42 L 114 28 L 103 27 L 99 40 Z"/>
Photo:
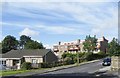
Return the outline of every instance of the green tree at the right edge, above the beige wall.
<path id="1" fill-rule="evenodd" d="M 113 38 L 112 41 L 109 43 L 109 55 L 120 55 L 120 44 L 116 38 Z"/>

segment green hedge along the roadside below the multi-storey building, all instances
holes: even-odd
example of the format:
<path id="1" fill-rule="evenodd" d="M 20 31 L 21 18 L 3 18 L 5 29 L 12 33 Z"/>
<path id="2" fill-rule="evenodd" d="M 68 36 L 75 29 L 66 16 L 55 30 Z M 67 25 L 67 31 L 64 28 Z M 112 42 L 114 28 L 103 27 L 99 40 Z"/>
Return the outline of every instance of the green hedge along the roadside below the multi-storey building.
<path id="1" fill-rule="evenodd" d="M 78 55 L 79 55 L 79 62 L 101 59 L 101 58 L 104 58 L 104 57 L 108 56 L 104 52 L 99 52 L 99 53 L 80 52 L 80 53 L 78 53 Z M 77 62 L 77 54 L 64 53 L 62 55 L 62 58 L 63 58 L 65 64 L 73 64 L 73 63 Z"/>

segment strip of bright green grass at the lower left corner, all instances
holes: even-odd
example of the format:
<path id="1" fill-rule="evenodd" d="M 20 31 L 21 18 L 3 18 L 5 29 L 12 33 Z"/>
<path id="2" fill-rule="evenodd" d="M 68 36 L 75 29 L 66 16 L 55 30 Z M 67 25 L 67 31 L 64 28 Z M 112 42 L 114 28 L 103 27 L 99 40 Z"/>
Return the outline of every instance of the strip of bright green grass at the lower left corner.
<path id="1" fill-rule="evenodd" d="M 7 75 L 25 73 L 25 72 L 29 72 L 29 71 L 31 71 L 31 70 L 7 70 L 7 71 L 0 71 L 0 76 L 7 76 Z"/>

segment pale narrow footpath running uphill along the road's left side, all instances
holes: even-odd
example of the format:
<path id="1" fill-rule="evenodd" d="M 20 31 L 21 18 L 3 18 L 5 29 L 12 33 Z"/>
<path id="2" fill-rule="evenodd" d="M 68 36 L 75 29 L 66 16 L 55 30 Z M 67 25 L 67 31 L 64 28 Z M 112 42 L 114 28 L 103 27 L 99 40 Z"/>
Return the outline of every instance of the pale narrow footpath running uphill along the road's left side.
<path id="1" fill-rule="evenodd" d="M 85 64 L 89 64 L 89 63 L 94 63 L 94 62 L 97 62 L 97 61 L 99 61 L 99 60 L 83 62 L 83 63 L 80 63 L 80 64 L 64 65 L 64 66 L 53 67 L 53 68 L 45 68 L 45 69 L 40 69 L 40 70 L 33 70 L 33 71 L 30 71 L 30 72 L 19 73 L 19 74 L 9 75 L 9 76 L 30 76 L 30 75 L 35 75 L 35 74 L 43 74 L 43 73 L 47 73 L 47 72 L 52 72 L 52 71 L 72 68 L 72 67 L 76 67 L 76 66 L 80 66 L 80 65 L 85 65 Z"/>

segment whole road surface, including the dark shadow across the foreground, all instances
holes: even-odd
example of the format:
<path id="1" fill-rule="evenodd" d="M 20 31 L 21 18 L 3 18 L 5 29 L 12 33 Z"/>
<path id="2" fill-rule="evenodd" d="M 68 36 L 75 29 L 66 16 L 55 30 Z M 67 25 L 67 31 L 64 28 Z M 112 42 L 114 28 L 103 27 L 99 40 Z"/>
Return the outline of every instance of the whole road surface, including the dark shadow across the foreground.
<path id="1" fill-rule="evenodd" d="M 102 60 L 77 67 L 56 70 L 43 74 L 35 74 L 22 78 L 118 78 L 116 75 L 108 73 L 108 67 L 106 68 L 106 66 L 102 66 L 101 63 Z M 102 69 L 102 71 L 98 71 L 100 69 Z M 103 69 L 105 70 L 103 71 Z"/>

